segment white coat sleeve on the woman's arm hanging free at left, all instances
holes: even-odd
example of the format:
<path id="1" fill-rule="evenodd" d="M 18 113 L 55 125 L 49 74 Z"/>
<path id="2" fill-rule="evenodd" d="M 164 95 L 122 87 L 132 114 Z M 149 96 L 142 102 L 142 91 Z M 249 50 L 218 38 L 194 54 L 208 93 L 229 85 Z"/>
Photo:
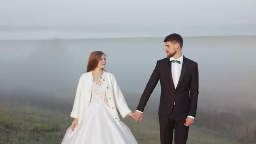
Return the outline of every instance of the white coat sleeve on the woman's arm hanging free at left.
<path id="1" fill-rule="evenodd" d="M 83 77 L 82 76 L 80 76 L 80 79 L 78 81 L 78 86 L 77 86 L 77 92 L 75 93 L 73 109 L 72 109 L 72 112 L 70 115 L 72 118 L 79 118 L 78 115 L 79 115 L 79 107 L 80 107 L 80 98 L 81 98 L 81 92 L 82 92 L 82 87 L 83 87 Z"/>

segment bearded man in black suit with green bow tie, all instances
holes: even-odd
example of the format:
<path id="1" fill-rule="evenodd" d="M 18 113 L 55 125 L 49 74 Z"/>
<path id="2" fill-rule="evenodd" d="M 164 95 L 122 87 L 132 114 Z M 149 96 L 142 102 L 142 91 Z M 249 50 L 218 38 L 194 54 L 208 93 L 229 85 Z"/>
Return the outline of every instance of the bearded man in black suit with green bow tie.
<path id="1" fill-rule="evenodd" d="M 167 58 L 156 63 L 134 113 L 136 121 L 142 119 L 144 107 L 160 80 L 161 97 L 159 124 L 161 144 L 186 143 L 189 126 L 196 116 L 199 77 L 197 63 L 182 55 L 183 39 L 173 33 L 165 40 Z"/>

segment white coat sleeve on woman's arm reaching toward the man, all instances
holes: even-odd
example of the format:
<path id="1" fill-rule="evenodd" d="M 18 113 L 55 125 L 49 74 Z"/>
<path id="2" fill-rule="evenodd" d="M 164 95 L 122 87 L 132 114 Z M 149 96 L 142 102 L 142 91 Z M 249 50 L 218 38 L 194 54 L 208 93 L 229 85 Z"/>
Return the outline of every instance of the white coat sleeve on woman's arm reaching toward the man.
<path id="1" fill-rule="evenodd" d="M 124 95 L 121 92 L 114 75 L 112 75 L 112 78 L 113 78 L 113 91 L 114 91 L 115 105 L 117 106 L 117 109 L 120 112 L 120 115 L 123 118 L 125 118 L 132 111 L 127 106 Z"/>

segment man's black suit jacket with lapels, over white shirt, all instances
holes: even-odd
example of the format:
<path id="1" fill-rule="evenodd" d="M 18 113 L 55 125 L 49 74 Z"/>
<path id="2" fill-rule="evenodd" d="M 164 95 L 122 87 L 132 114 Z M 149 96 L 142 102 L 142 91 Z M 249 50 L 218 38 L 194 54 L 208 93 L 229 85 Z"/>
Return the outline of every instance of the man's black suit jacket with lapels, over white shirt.
<path id="1" fill-rule="evenodd" d="M 199 94 L 199 76 L 197 63 L 183 57 L 181 76 L 175 89 L 172 80 L 170 58 L 164 58 L 156 63 L 146 88 L 139 100 L 137 110 L 144 111 L 144 107 L 152 94 L 156 84 L 160 80 L 161 97 L 159 104 L 159 116 L 169 116 L 175 109 L 180 117 L 196 116 L 197 98 Z"/>

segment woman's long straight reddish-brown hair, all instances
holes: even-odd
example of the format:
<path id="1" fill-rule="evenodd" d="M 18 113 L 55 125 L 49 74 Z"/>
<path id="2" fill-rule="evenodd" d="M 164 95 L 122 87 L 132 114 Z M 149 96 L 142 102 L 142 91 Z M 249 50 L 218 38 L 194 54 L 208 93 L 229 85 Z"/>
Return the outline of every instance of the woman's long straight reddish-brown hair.
<path id="1" fill-rule="evenodd" d="M 102 55 L 105 55 L 105 53 L 102 51 L 91 52 L 91 54 L 89 56 L 89 61 L 87 64 L 87 70 L 86 70 L 87 72 L 92 71 L 97 68 L 98 62 L 100 62 Z"/>

